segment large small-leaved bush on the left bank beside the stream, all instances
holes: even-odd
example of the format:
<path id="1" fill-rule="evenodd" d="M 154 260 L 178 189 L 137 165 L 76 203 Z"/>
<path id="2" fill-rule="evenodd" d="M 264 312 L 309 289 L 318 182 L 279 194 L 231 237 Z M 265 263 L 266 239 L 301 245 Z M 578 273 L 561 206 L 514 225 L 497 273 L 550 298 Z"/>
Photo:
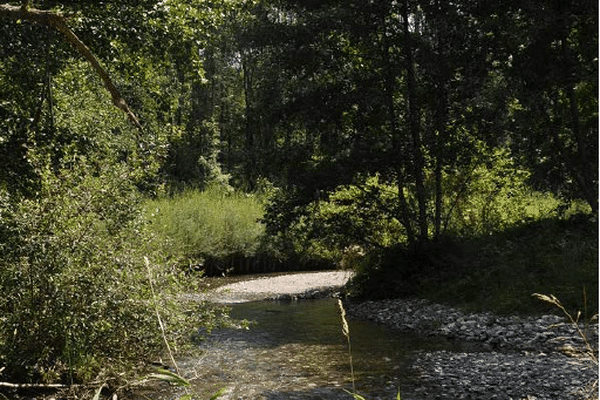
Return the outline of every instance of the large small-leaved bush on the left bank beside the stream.
<path id="1" fill-rule="evenodd" d="M 161 351 L 143 257 L 164 262 L 139 217 L 141 197 L 126 166 L 85 167 L 44 172 L 35 199 L 1 198 L 4 376 L 87 381 Z M 174 271 L 154 275 L 163 294 L 174 290 Z M 180 335 L 182 306 L 161 304 Z"/>

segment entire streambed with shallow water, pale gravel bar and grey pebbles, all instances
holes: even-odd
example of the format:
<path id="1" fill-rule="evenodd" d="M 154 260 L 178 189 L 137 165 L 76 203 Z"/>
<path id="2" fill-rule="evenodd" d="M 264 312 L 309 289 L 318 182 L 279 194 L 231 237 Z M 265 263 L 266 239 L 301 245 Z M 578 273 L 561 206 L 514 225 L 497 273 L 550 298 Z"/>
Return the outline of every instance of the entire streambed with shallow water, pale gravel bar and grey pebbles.
<path id="1" fill-rule="evenodd" d="M 315 299 L 340 281 L 327 284 L 335 275 L 318 274 L 218 285 L 212 299 L 225 299 L 232 317 L 255 324 L 214 331 L 200 357 L 180 360 L 194 391 L 201 398 L 226 387 L 221 399 L 352 399 L 335 301 Z M 286 282 L 294 283 L 286 289 Z M 464 314 L 423 300 L 346 308 L 354 387 L 368 399 L 395 399 L 398 388 L 412 400 L 578 399 L 598 377 L 588 358 L 565 354 L 565 346 L 582 343 L 557 316 Z M 597 324 L 586 328 L 595 345 Z"/>

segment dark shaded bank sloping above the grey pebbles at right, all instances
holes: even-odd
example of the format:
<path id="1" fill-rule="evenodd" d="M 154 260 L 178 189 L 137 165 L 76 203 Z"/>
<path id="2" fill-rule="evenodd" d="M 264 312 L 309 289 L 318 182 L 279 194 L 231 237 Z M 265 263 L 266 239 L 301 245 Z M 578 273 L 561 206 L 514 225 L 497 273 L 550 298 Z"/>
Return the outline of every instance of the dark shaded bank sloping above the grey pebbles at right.
<path id="1" fill-rule="evenodd" d="M 552 293 L 583 317 L 598 312 L 595 218 L 545 219 L 484 237 L 444 238 L 396 247 L 363 261 L 348 295 L 421 297 L 469 311 L 537 314 L 551 307 L 532 293 Z"/>

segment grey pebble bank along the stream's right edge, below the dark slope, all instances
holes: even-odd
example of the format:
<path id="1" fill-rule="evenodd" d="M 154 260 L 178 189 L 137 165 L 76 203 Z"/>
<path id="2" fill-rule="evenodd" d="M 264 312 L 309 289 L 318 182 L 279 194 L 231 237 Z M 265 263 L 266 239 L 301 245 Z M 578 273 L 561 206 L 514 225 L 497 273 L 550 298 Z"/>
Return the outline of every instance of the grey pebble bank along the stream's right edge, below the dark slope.
<path id="1" fill-rule="evenodd" d="M 598 366 L 579 352 L 585 342 L 565 318 L 467 314 L 425 300 L 347 302 L 347 308 L 353 318 L 473 344 L 472 352 L 415 354 L 402 398 L 598 398 Z M 597 349 L 597 321 L 580 328 Z"/>

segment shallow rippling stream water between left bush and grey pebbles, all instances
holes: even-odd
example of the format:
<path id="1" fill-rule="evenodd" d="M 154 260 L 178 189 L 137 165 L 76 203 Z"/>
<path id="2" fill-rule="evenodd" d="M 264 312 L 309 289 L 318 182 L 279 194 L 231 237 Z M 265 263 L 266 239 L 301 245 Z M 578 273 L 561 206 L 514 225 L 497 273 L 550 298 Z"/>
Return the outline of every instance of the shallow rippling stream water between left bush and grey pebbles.
<path id="1" fill-rule="evenodd" d="M 199 358 L 180 369 L 194 391 L 221 399 L 352 399 L 348 342 L 336 300 L 257 301 L 232 306 L 248 329 L 220 329 L 202 343 Z M 350 320 L 356 391 L 369 399 L 395 398 L 398 385 L 411 385 L 411 358 L 419 351 L 460 351 L 441 338 L 398 333 Z"/>

